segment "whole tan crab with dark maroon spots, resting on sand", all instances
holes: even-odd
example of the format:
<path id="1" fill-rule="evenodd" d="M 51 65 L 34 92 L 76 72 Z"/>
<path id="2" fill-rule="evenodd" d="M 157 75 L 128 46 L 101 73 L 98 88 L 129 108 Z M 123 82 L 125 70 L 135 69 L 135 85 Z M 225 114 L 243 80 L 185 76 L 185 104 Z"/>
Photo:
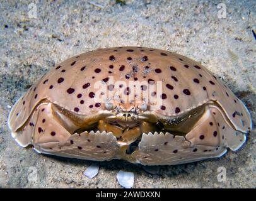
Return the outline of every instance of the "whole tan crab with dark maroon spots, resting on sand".
<path id="1" fill-rule="evenodd" d="M 236 151 L 252 129 L 247 107 L 200 63 L 146 47 L 71 57 L 9 114 L 22 147 L 38 153 L 177 165 Z"/>

